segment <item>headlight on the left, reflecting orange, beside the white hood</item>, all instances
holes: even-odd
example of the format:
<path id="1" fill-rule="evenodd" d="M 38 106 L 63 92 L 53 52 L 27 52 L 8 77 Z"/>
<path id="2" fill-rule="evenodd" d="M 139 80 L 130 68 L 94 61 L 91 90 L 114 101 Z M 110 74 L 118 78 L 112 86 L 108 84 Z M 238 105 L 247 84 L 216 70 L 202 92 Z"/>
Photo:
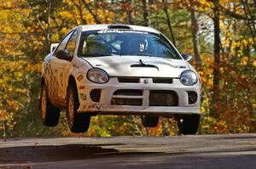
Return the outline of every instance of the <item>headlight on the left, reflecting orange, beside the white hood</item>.
<path id="1" fill-rule="evenodd" d="M 109 80 L 108 73 L 99 68 L 91 68 L 87 71 L 87 79 L 90 82 L 106 83 Z"/>

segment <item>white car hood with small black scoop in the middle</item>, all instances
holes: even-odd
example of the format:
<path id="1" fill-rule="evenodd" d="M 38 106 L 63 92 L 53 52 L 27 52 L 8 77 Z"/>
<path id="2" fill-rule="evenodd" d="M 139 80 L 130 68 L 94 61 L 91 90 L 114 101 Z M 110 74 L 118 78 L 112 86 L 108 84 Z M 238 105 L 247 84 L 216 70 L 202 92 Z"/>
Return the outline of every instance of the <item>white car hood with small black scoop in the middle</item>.
<path id="1" fill-rule="evenodd" d="M 189 69 L 188 63 L 182 59 L 149 56 L 103 56 L 84 59 L 93 67 L 106 70 L 109 76 L 179 77 L 183 70 Z"/>

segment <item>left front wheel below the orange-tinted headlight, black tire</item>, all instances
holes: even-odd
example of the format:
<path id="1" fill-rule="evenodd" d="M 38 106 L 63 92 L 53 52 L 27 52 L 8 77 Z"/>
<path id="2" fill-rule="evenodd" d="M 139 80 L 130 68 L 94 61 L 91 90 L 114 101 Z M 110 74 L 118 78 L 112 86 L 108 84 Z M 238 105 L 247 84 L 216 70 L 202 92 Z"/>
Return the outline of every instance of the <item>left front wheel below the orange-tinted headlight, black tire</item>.
<path id="1" fill-rule="evenodd" d="M 68 87 L 67 93 L 67 122 L 71 132 L 87 132 L 90 127 L 90 115 L 78 113 L 79 97 L 77 88 Z"/>

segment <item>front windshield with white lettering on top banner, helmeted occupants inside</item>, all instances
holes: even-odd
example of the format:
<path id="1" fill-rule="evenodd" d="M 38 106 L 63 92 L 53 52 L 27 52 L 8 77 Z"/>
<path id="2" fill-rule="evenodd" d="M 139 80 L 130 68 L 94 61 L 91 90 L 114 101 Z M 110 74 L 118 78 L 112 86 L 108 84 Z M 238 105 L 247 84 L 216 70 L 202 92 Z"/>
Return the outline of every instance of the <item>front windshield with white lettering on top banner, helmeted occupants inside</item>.
<path id="1" fill-rule="evenodd" d="M 131 30 L 84 31 L 80 39 L 79 55 L 139 55 L 181 59 L 165 37 L 147 31 Z"/>

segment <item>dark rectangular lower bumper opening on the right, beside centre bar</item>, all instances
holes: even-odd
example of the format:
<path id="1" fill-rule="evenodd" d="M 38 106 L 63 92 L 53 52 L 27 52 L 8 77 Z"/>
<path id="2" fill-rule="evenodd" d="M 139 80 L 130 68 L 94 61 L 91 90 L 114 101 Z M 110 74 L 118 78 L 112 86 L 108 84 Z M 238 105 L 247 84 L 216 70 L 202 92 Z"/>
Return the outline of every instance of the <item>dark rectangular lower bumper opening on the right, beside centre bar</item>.
<path id="1" fill-rule="evenodd" d="M 177 106 L 177 93 L 166 90 L 151 90 L 149 106 Z"/>

